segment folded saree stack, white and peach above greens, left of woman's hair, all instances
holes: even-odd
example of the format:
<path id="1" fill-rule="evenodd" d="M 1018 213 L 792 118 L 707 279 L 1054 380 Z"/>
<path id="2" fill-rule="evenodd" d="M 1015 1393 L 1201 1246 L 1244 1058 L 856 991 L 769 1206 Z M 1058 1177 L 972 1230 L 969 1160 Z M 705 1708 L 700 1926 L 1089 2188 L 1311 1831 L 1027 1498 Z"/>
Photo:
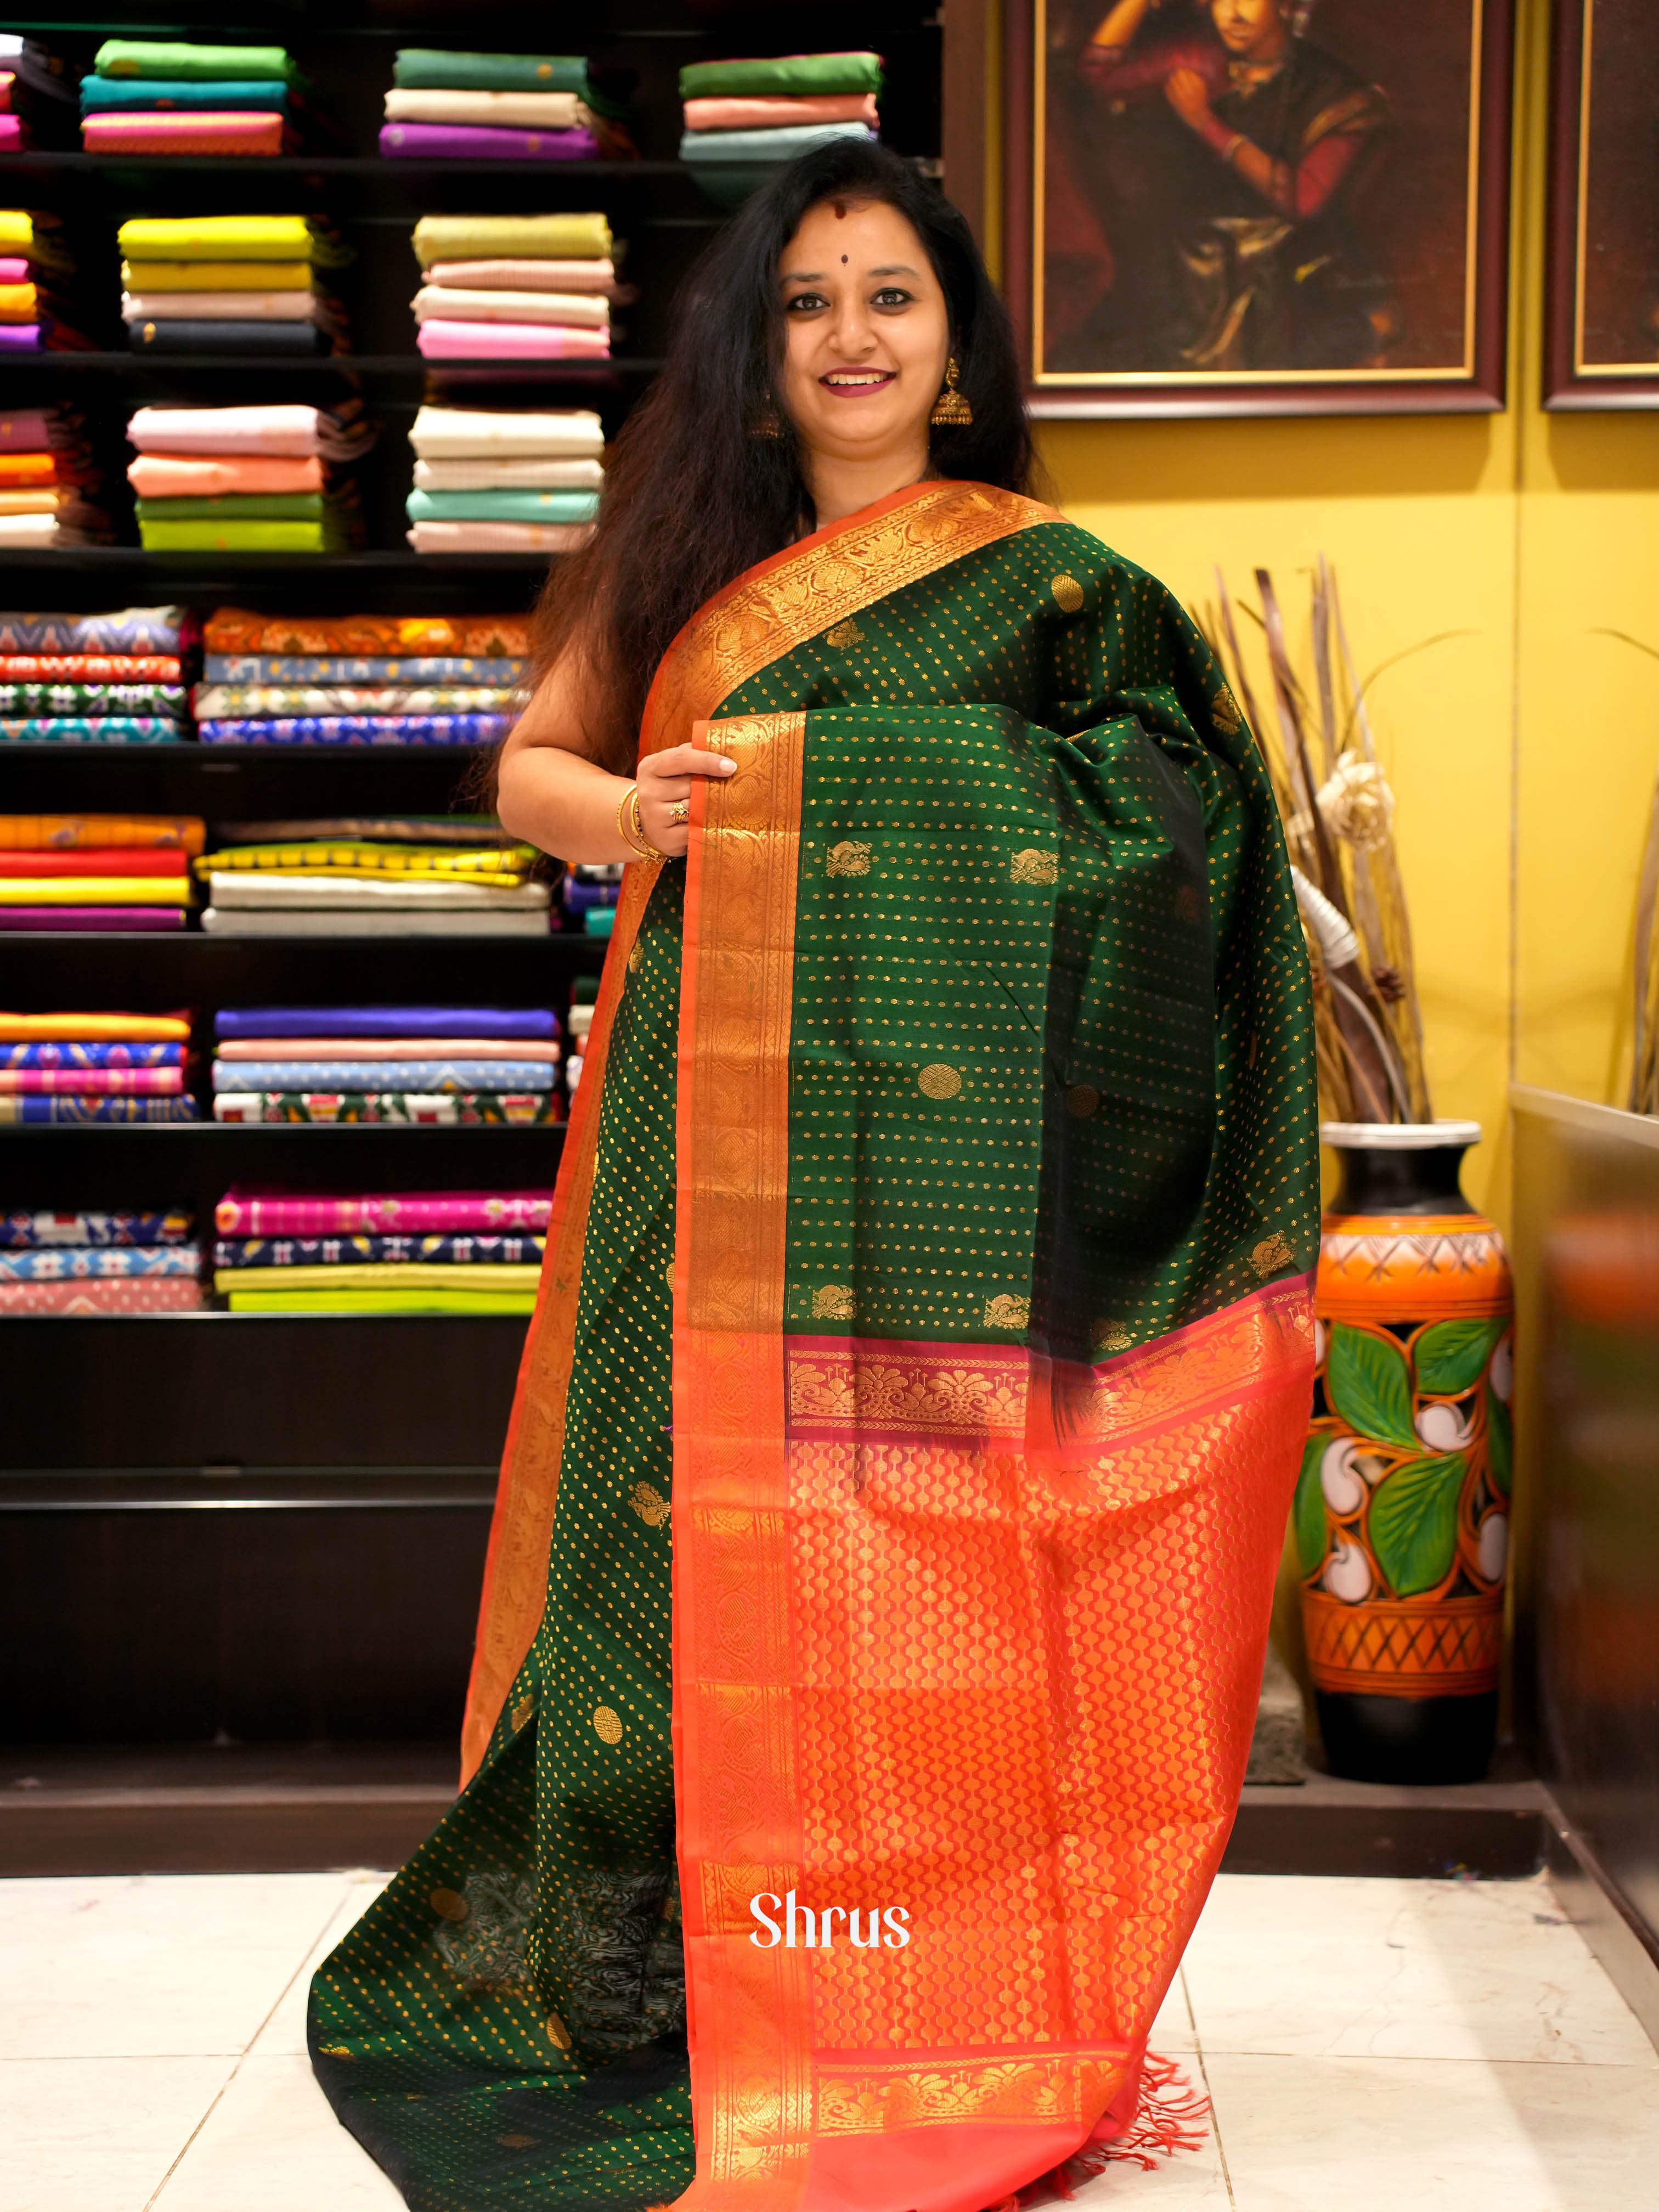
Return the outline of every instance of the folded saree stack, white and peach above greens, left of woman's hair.
<path id="1" fill-rule="evenodd" d="M 363 400 L 139 407 L 126 438 L 146 553 L 341 553 L 363 538 Z"/>

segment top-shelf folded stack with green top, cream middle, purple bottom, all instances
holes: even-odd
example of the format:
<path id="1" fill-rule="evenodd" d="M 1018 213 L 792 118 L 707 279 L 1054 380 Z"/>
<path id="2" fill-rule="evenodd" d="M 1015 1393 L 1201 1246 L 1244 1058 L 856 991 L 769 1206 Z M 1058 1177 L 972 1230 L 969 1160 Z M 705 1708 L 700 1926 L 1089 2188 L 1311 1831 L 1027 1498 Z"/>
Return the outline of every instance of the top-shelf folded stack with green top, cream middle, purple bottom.
<path id="1" fill-rule="evenodd" d="M 580 53 L 405 46 L 392 75 L 380 153 L 394 161 L 593 161 L 635 150 L 619 104 Z"/>

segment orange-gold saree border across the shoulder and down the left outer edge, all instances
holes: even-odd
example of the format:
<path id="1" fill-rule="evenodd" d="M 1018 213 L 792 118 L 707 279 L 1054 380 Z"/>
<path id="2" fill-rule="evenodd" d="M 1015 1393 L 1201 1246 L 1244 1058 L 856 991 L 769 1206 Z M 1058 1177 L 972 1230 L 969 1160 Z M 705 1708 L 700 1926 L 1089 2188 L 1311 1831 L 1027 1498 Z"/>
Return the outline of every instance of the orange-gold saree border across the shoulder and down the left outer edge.
<path id="1" fill-rule="evenodd" d="M 646 699 L 639 757 L 686 743 L 692 723 L 712 714 L 739 684 L 832 624 L 845 622 L 847 615 L 905 584 L 920 582 L 978 546 L 1037 522 L 1060 520 L 1064 518 L 1055 509 L 991 484 L 922 482 L 876 500 L 845 522 L 814 531 L 772 560 L 759 562 L 699 608 L 664 653 Z M 701 816 L 692 814 L 692 823 L 695 849 Z M 624 872 L 599 1002 L 582 1055 L 582 1084 L 564 1135 L 546 1259 L 518 1369 L 484 1557 L 460 1739 L 462 1785 L 489 1750 L 546 1604 L 546 1557 L 564 1447 L 564 1394 L 571 1380 L 582 1248 L 599 1141 L 604 1062 L 628 953 L 655 883 L 657 863 L 639 863 Z M 792 898 L 794 887 L 790 902 Z"/>

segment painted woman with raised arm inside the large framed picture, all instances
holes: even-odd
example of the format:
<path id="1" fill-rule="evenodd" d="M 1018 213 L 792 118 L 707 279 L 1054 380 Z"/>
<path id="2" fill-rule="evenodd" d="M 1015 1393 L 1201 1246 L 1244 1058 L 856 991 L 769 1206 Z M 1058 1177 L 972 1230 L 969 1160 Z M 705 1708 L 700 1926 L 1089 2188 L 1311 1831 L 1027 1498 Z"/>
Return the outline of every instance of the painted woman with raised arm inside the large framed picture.
<path id="1" fill-rule="evenodd" d="M 1084 100 L 1110 111 L 1082 144 L 1106 161 L 1121 281 L 1051 365 L 1383 367 L 1398 310 L 1349 223 L 1383 93 L 1301 35 L 1307 0 L 1199 4 L 1208 35 L 1137 46 L 1177 7 L 1115 0 L 1082 49 Z"/>

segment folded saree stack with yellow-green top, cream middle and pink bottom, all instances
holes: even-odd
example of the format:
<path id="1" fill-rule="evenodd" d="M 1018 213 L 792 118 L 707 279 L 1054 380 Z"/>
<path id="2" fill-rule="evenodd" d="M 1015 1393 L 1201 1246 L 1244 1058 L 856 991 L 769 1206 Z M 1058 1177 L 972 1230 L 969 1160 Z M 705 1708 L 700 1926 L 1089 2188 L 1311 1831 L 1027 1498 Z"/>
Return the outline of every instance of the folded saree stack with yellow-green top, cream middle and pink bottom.
<path id="1" fill-rule="evenodd" d="M 414 250 L 427 361 L 611 356 L 617 265 L 604 215 L 422 215 Z"/>

